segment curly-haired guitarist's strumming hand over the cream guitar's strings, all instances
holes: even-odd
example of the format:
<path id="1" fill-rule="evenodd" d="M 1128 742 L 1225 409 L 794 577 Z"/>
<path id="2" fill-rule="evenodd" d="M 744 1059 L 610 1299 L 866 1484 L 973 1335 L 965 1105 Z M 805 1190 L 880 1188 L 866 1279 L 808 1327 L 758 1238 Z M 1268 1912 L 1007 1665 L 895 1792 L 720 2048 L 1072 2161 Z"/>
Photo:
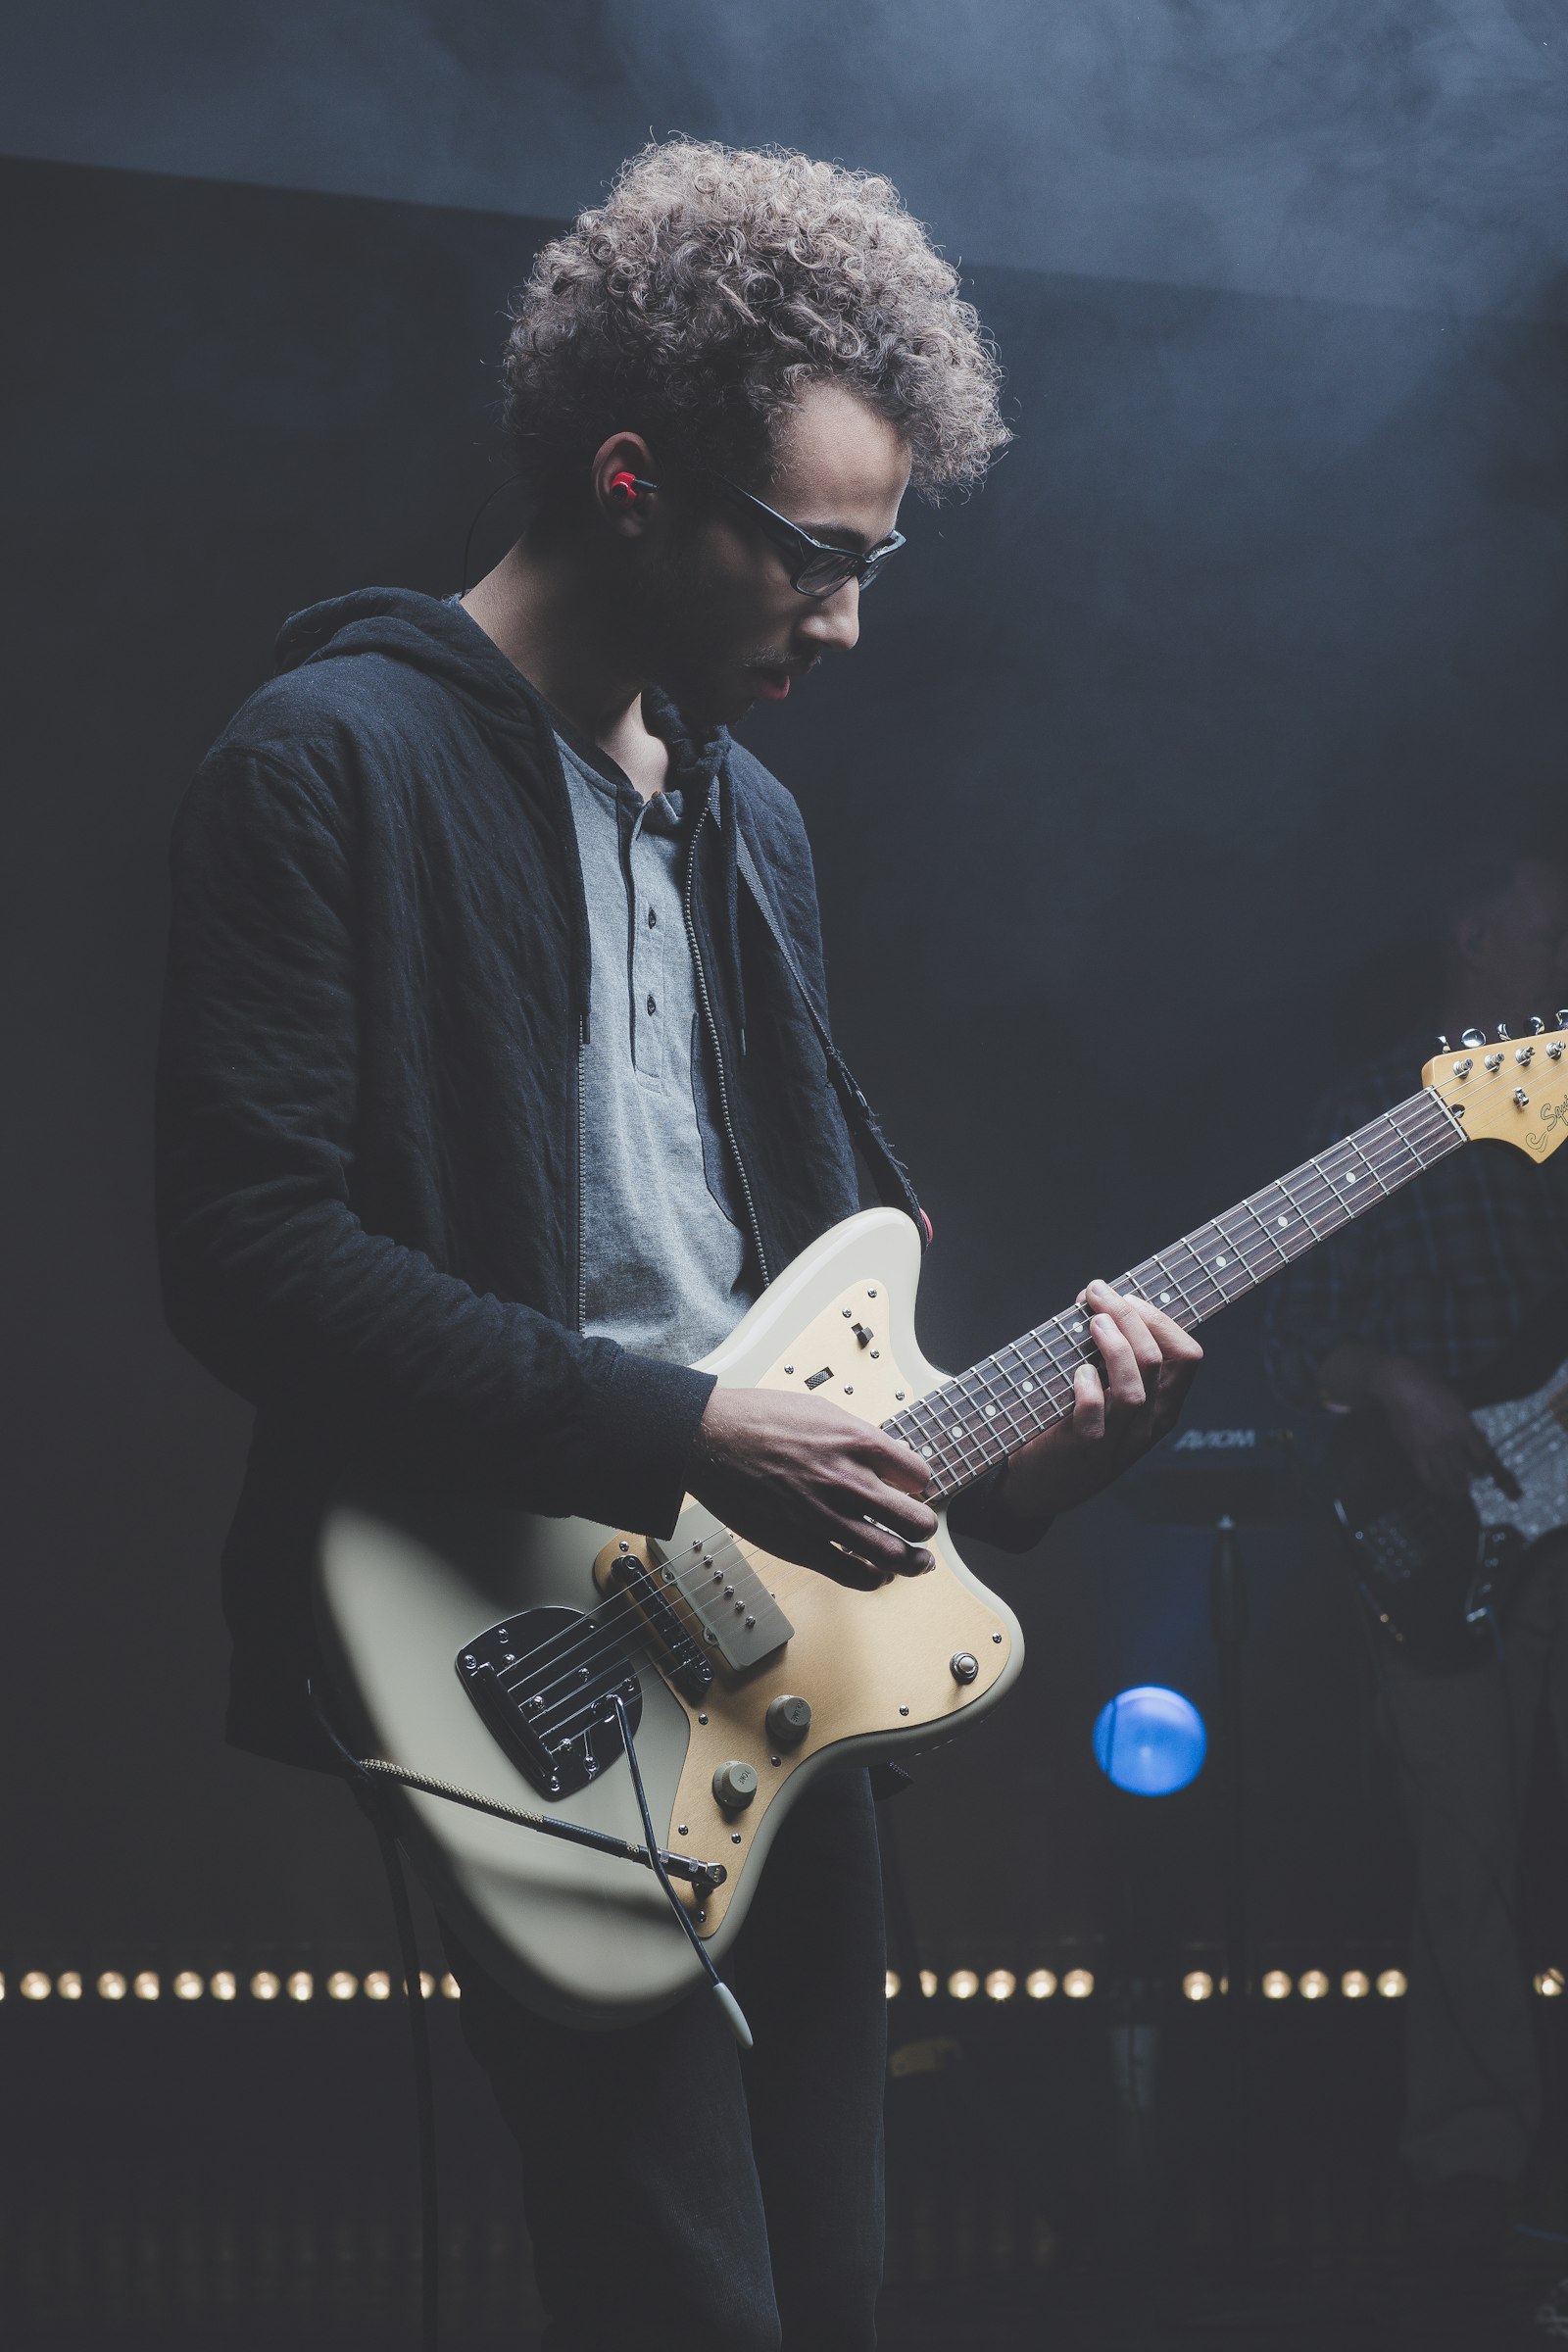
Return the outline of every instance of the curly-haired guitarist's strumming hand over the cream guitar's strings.
<path id="1" fill-rule="evenodd" d="M 715 1388 L 686 1486 L 748 1543 L 867 1592 L 889 1573 L 931 1566 L 926 1477 L 914 1446 L 837 1404 Z"/>

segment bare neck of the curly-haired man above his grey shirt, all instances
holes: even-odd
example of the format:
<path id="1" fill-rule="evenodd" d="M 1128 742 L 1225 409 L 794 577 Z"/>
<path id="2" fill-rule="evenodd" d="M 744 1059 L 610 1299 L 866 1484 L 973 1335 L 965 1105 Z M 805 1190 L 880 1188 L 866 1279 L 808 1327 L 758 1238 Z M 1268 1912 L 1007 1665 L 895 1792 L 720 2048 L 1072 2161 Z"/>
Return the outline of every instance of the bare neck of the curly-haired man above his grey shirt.
<path id="1" fill-rule="evenodd" d="M 642 715 L 646 677 L 628 659 L 604 583 L 571 548 L 538 550 L 527 539 L 463 597 L 505 659 L 548 703 L 625 769 L 644 800 L 670 774 L 670 748 Z"/>

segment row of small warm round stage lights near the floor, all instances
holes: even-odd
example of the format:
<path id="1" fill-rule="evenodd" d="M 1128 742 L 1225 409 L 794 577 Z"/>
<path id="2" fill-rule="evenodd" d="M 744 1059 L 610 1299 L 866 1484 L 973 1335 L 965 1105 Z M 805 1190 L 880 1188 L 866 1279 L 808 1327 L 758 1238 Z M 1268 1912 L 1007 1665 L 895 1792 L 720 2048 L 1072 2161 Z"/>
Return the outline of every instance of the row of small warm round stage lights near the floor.
<path id="1" fill-rule="evenodd" d="M 440 1992 L 444 1999 L 458 1999 L 456 1976 L 430 1976 L 421 1969 L 421 1990 L 428 2002 Z M 364 1994 L 367 2002 L 390 2002 L 393 1990 L 402 1987 L 402 1978 L 388 1976 L 386 1969 L 371 1969 L 364 1978 L 353 1976 L 348 1969 L 334 1969 L 331 1976 L 322 1980 L 322 1992 L 329 2002 L 353 2002 L 355 1994 Z M 1542 1969 L 1535 1978 L 1535 1990 L 1542 1999 L 1556 1999 L 1568 1987 L 1568 1976 L 1561 1969 Z M 120 1969 L 103 1969 L 96 1978 L 96 1994 L 101 2002 L 158 2002 L 162 1999 L 162 1976 L 155 1969 L 141 1969 L 136 1976 L 122 1976 Z M 275 1969 L 256 1969 L 249 1978 L 249 1997 L 254 2002 L 313 2002 L 317 1992 L 315 1976 L 310 1969 L 294 1969 L 292 1976 L 277 1976 Z M 919 1990 L 924 1999 L 933 2002 L 943 1990 L 943 1980 L 936 1969 L 919 1971 Z M 947 1978 L 947 1994 L 954 2002 L 973 2002 L 983 1992 L 990 2002 L 1011 2002 L 1016 1992 L 1025 1994 L 1030 2002 L 1048 2002 L 1060 1992 L 1070 2002 L 1086 2002 L 1095 1990 L 1091 1969 L 1065 1969 L 1056 1976 L 1051 1969 L 1030 1969 L 1023 1987 L 1011 1969 L 992 1969 L 990 1976 L 978 1976 L 973 1969 L 954 1969 Z M 1305 1969 L 1300 1976 L 1288 1976 L 1284 1969 L 1269 1969 L 1258 1990 L 1265 2002 L 1288 2002 L 1293 1992 L 1302 2002 L 1324 2002 L 1333 1992 L 1333 1978 L 1324 1969 Z M 1385 2002 L 1399 2002 L 1410 1987 L 1406 1983 L 1403 1969 L 1382 1969 L 1378 1976 L 1368 1976 L 1366 1969 L 1347 1969 L 1340 1978 L 1340 1992 L 1347 2002 L 1363 2002 L 1368 1992 L 1380 1992 Z M 0 2002 L 5 1999 L 5 1978 L 0 1976 Z M 16 1992 L 24 2002 L 47 2002 L 49 1994 L 59 1994 L 61 2002 L 80 2002 L 87 1992 L 87 1983 L 78 1969 L 66 1969 L 61 1976 L 45 1976 L 42 1969 L 28 1969 L 16 1978 Z M 200 1976 L 195 1969 L 179 1969 L 169 1978 L 169 1992 L 176 2002 L 200 2002 L 202 1994 L 212 1994 L 214 2002 L 240 1999 L 240 1978 L 233 1969 L 219 1969 L 214 1976 Z M 886 1997 L 889 2002 L 903 1992 L 903 1978 L 896 1969 L 886 1973 Z M 1208 2002 L 1215 1992 L 1225 1992 L 1225 1978 L 1213 1978 L 1206 1969 L 1190 1969 L 1182 1976 L 1182 1997 L 1190 2002 Z"/>

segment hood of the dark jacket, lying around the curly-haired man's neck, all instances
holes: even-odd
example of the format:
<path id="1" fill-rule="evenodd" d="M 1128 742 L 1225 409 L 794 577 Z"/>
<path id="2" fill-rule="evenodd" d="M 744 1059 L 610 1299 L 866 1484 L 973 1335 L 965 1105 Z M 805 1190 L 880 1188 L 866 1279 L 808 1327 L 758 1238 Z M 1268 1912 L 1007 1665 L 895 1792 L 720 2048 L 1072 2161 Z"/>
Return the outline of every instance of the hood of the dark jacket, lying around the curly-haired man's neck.
<path id="1" fill-rule="evenodd" d="M 541 755 L 552 746 L 550 706 L 456 597 L 416 588 L 360 588 L 289 614 L 277 633 L 277 670 L 381 654 L 440 680 L 498 748 Z M 705 786 L 724 769 L 729 729 L 691 727 L 663 687 L 644 687 L 642 715 L 663 736 L 682 786 Z M 726 795 L 729 797 L 729 795 Z"/>

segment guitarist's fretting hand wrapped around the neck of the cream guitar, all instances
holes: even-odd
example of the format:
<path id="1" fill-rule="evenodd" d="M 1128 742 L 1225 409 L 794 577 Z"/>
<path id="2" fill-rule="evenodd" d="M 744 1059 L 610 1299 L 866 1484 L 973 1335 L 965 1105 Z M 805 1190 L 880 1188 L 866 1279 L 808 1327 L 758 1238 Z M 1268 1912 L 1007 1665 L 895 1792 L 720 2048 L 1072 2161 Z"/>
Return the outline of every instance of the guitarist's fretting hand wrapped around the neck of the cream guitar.
<path id="1" fill-rule="evenodd" d="M 1204 1350 L 1178 1322 L 1110 1282 L 1079 1294 L 1105 1378 L 1079 1364 L 1072 1414 L 1009 1458 L 997 1510 L 1020 1526 L 1086 1503 L 1175 1425 Z"/>

